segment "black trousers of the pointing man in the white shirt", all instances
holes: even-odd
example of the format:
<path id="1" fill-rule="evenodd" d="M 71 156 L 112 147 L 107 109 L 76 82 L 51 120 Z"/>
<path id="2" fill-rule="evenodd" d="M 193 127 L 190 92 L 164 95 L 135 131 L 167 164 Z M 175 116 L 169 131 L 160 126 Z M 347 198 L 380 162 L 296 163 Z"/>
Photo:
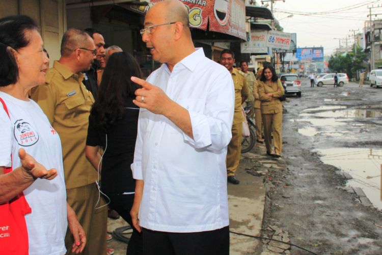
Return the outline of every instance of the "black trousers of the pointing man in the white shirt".
<path id="1" fill-rule="evenodd" d="M 229 226 L 195 233 L 169 233 L 142 229 L 145 255 L 228 255 Z"/>

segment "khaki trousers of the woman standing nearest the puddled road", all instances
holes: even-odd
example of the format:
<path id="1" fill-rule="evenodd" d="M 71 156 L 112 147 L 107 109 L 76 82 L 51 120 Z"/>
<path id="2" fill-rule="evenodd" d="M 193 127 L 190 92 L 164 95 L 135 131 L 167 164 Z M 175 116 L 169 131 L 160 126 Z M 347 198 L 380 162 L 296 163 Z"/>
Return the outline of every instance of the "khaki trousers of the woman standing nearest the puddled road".
<path id="1" fill-rule="evenodd" d="M 275 153 L 281 155 L 281 150 L 283 146 L 283 141 L 281 137 L 281 129 L 283 122 L 283 112 L 262 114 L 263 125 L 264 125 L 264 138 L 265 146 L 268 152 L 273 152 L 272 149 L 272 136 L 273 133 L 273 143 L 275 146 Z"/>

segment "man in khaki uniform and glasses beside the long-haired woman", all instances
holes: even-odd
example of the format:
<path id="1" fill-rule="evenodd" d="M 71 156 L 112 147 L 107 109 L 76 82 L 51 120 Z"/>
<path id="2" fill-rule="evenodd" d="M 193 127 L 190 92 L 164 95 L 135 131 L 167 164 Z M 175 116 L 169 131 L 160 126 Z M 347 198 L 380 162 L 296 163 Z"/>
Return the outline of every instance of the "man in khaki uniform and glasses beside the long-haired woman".
<path id="1" fill-rule="evenodd" d="M 87 245 L 83 254 L 106 254 L 107 208 L 94 209 L 98 189 L 97 171 L 85 157 L 90 109 L 94 103 L 90 91 L 82 83 L 84 74 L 95 59 L 93 39 L 86 33 L 70 29 L 61 43 L 61 58 L 54 61 L 46 74 L 46 85 L 32 90 L 31 97 L 42 108 L 60 137 L 63 147 L 67 201 L 84 227 Z M 52 130 L 53 132 L 53 130 Z M 68 231 L 65 245 L 73 243 Z M 49 242 L 49 240 L 46 240 Z"/>

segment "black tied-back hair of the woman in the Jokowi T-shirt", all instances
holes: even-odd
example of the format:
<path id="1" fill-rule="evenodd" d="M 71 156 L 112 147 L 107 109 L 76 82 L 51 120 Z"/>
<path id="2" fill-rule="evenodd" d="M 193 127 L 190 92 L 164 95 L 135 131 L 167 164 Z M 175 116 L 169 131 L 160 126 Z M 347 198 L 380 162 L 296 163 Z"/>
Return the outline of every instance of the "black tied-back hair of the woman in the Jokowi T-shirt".
<path id="1" fill-rule="evenodd" d="M 25 32 L 37 29 L 36 21 L 29 16 L 14 15 L 0 19 L 0 87 L 17 82 L 18 67 L 12 49 L 28 46 L 31 38 Z"/>

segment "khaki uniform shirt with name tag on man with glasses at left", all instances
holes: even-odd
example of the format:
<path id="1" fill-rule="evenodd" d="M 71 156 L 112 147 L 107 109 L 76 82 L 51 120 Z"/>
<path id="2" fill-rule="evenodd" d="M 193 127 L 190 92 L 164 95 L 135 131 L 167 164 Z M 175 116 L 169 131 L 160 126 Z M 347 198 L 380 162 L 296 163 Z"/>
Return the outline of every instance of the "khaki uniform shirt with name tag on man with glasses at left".
<path id="1" fill-rule="evenodd" d="M 74 74 L 54 61 L 45 79 L 46 85 L 35 87 L 31 98 L 39 104 L 60 135 L 66 188 L 94 183 L 97 171 L 85 156 L 89 114 L 94 99 L 82 83 L 84 75 Z"/>

